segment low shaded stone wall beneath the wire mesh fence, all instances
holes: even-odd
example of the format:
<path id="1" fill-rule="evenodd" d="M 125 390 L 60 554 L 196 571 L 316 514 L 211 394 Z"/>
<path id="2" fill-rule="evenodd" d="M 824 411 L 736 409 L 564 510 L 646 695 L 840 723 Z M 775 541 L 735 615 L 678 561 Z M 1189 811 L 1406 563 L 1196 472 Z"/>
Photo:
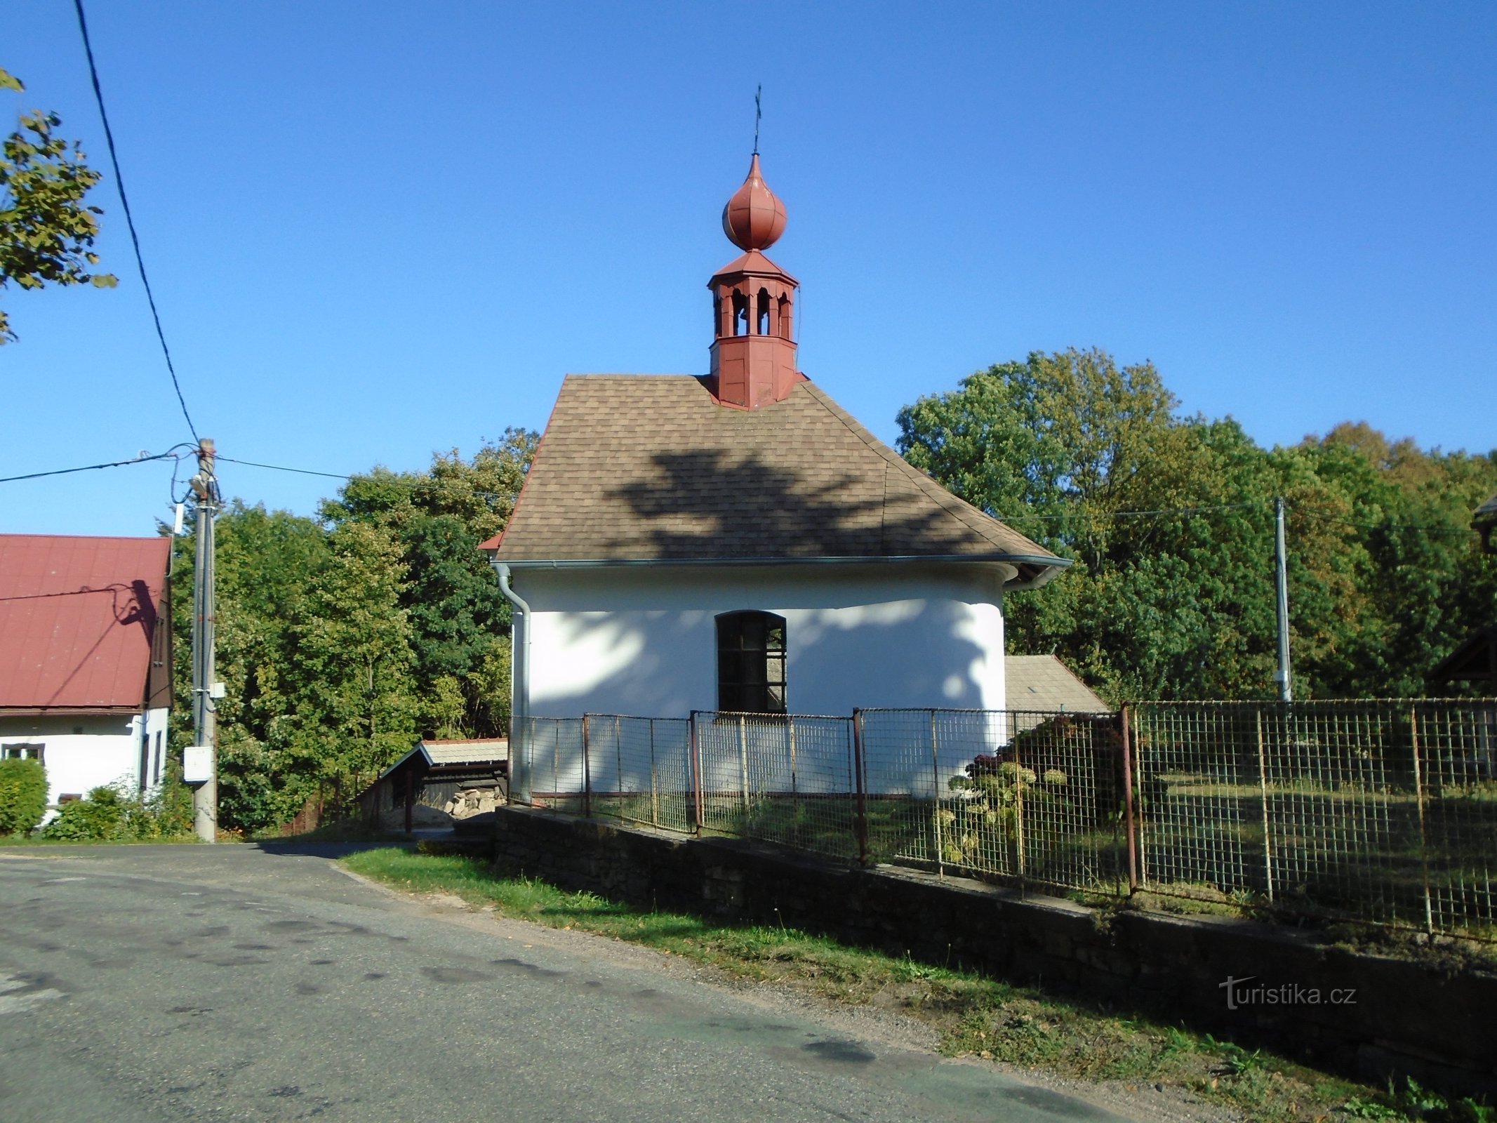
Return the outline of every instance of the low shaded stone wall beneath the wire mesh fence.
<path id="1" fill-rule="evenodd" d="M 1322 1068 L 1497 1095 L 1497 973 L 1454 976 L 1253 921 L 1099 912 L 963 877 L 847 868 L 740 840 L 663 836 L 534 809 L 500 809 L 494 839 L 500 871 L 561 888 L 783 922 L 927 963 L 1042 982 Z M 1228 979 L 1238 982 L 1228 988 Z"/>

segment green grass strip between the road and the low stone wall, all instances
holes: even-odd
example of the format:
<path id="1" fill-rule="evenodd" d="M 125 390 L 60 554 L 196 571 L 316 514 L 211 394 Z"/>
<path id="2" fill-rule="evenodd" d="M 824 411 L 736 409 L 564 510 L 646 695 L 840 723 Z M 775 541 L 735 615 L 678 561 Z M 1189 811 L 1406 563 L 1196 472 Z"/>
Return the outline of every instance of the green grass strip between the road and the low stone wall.
<path id="1" fill-rule="evenodd" d="M 740 981 L 790 985 L 852 1005 L 892 1006 L 936 1029 L 942 1051 L 952 1057 L 1004 1060 L 1126 1084 L 1172 1084 L 1241 1108 L 1254 1120 L 1329 1117 L 1343 1105 L 1392 1113 L 1364 1119 L 1484 1119 L 1466 1111 L 1466 1105 L 1419 1108 L 1392 1090 L 1380 1092 L 1151 1018 L 909 955 L 844 946 L 789 927 L 729 925 L 689 913 L 635 909 L 533 877 L 496 876 L 475 858 L 389 847 L 352 853 L 341 862 L 401 889 L 451 894 L 500 916 L 641 943 Z"/>

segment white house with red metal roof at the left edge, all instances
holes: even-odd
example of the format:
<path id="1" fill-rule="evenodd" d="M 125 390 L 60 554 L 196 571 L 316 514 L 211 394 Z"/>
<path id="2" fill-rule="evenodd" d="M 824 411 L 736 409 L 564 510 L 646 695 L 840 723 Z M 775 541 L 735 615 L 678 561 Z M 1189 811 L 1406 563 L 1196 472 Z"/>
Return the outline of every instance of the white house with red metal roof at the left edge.
<path id="1" fill-rule="evenodd" d="M 48 803 L 162 782 L 172 698 L 171 539 L 0 535 L 0 756 Z"/>

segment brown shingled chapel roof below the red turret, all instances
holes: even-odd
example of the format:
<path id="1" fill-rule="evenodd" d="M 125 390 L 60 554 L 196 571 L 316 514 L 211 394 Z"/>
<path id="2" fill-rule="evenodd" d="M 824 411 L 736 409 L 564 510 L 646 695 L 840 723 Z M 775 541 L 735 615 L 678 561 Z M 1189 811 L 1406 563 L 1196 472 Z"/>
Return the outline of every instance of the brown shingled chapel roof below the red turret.
<path id="1" fill-rule="evenodd" d="M 690 374 L 569 374 L 504 563 L 960 559 L 1069 564 L 906 463 L 811 382 L 726 409 Z"/>

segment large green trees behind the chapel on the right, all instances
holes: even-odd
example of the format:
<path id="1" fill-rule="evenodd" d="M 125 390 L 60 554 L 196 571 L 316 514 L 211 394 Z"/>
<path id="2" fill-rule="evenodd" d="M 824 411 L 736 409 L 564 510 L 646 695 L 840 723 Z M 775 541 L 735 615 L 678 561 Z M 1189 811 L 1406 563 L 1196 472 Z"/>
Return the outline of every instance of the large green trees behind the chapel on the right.
<path id="1" fill-rule="evenodd" d="M 1289 502 L 1296 696 L 1424 693 L 1494 615 L 1470 514 L 1497 458 L 1365 425 L 1263 449 L 1181 418 L 1150 364 L 1034 353 L 900 412 L 900 451 L 1073 560 L 1010 594 L 1009 650 L 1058 653 L 1115 699 L 1274 695 L 1272 497 Z"/>

